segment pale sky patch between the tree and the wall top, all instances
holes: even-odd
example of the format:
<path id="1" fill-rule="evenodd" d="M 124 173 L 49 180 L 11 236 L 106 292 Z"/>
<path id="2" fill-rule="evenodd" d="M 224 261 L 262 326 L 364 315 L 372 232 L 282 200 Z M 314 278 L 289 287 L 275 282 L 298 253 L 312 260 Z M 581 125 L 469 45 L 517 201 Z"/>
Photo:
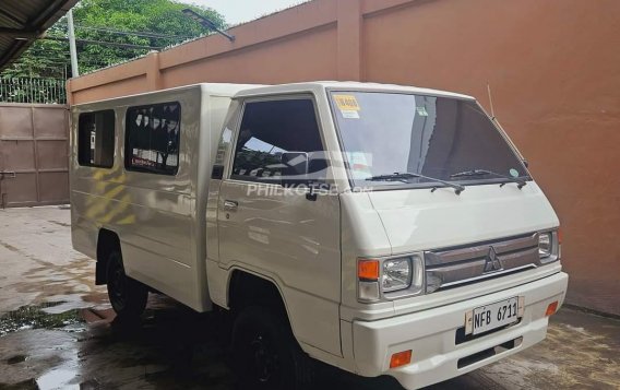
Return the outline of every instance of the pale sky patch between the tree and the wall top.
<path id="1" fill-rule="evenodd" d="M 210 7 L 223 14 L 228 24 L 235 25 L 299 4 L 303 0 L 183 0 L 183 2 Z"/>

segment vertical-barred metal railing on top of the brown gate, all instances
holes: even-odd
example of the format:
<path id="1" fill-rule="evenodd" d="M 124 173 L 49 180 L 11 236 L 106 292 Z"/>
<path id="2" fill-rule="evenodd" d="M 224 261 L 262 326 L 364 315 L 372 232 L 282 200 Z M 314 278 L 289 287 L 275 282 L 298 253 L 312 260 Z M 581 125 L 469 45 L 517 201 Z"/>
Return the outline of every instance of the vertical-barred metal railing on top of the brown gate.
<path id="1" fill-rule="evenodd" d="M 0 78 L 0 102 L 65 104 L 62 79 Z"/>

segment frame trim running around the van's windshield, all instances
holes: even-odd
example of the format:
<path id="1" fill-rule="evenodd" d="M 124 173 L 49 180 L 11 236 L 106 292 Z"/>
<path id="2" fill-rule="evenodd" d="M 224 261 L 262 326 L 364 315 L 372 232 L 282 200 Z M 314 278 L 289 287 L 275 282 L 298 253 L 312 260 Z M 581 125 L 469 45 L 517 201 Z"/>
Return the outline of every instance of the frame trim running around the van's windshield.
<path id="1" fill-rule="evenodd" d="M 487 114 L 487 111 L 485 110 L 485 108 L 480 105 L 480 103 L 475 99 L 475 98 L 466 98 L 466 97 L 462 97 L 462 96 L 451 96 L 451 95 L 443 95 L 443 94 L 419 94 L 416 92 L 405 92 L 405 91 L 394 91 L 394 90 L 389 90 L 389 88 L 365 88 L 365 87 L 359 87 L 359 88 L 339 88 L 339 87 L 327 87 L 325 88 L 325 95 L 327 98 L 327 103 L 330 106 L 330 113 L 331 113 L 331 117 L 332 117 L 332 122 L 334 123 L 334 129 L 336 130 L 336 138 L 338 140 L 338 147 L 339 147 L 339 152 L 341 152 L 341 157 L 343 158 L 343 163 L 345 166 L 345 170 L 347 174 L 347 179 L 349 182 L 349 186 L 351 189 L 356 189 L 356 188 L 361 188 L 365 191 L 385 191 L 385 190 L 402 190 L 402 189 L 432 189 L 432 188 L 450 188 L 449 186 L 445 186 L 441 182 L 433 182 L 433 181 L 427 181 L 427 182 L 400 182 L 400 181 L 392 181 L 392 185 L 378 185 L 378 186 L 361 186 L 361 185 L 356 185 L 356 181 L 353 178 L 353 174 L 350 172 L 350 167 L 348 164 L 348 161 L 346 158 L 346 151 L 344 147 L 344 141 L 342 138 L 342 131 L 341 131 L 341 126 L 338 123 L 338 120 L 336 119 L 336 110 L 334 107 L 334 101 L 332 99 L 332 93 L 334 92 L 365 92 L 365 93 L 382 93 L 382 94 L 394 94 L 394 95 L 414 95 L 414 96 L 433 96 L 433 97 L 444 97 L 444 98 L 453 98 L 455 101 L 464 101 L 464 102 L 474 102 L 476 104 L 476 106 L 480 109 L 480 111 L 482 114 L 485 114 L 485 116 L 487 117 L 487 119 L 492 123 L 493 128 L 496 129 L 496 131 L 500 134 L 500 137 L 502 138 L 502 140 L 506 143 L 506 145 L 509 146 L 510 151 L 514 154 L 515 158 L 518 161 L 518 164 L 523 167 L 523 170 L 525 173 L 527 173 L 527 175 L 525 176 L 518 176 L 516 177 L 517 179 L 523 179 L 525 181 L 534 181 L 534 178 L 532 177 L 532 175 L 529 174 L 529 170 L 527 169 L 527 167 L 525 166 L 525 164 L 523 163 L 523 157 L 521 155 L 521 153 L 515 149 L 514 144 L 512 143 L 512 141 L 509 141 L 509 139 L 506 139 L 506 134 L 504 134 L 504 131 L 502 131 L 498 125 L 496 123 L 496 121 L 489 116 L 489 114 Z M 485 186 L 485 185 L 496 185 L 496 184 L 510 184 L 513 182 L 513 180 L 506 179 L 506 178 L 502 178 L 502 177 L 494 177 L 494 178 L 490 178 L 490 179 L 475 179 L 475 180 L 467 180 L 467 179 L 462 179 L 462 180 L 450 180 L 451 182 L 455 184 L 455 185 L 461 185 L 461 186 Z M 379 180 L 369 180 L 370 182 L 380 182 Z M 385 181 L 382 181 L 385 182 Z"/>

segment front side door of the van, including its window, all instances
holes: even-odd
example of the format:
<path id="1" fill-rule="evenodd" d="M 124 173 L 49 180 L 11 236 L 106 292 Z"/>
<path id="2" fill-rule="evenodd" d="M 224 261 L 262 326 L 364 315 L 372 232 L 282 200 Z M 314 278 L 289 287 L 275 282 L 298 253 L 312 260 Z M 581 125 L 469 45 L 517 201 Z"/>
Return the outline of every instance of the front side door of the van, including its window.
<path id="1" fill-rule="evenodd" d="M 274 282 L 298 341 L 342 355 L 339 201 L 323 191 L 282 186 L 282 155 L 305 152 L 314 182 L 327 164 L 311 96 L 247 101 L 231 168 L 222 182 L 219 261 Z"/>

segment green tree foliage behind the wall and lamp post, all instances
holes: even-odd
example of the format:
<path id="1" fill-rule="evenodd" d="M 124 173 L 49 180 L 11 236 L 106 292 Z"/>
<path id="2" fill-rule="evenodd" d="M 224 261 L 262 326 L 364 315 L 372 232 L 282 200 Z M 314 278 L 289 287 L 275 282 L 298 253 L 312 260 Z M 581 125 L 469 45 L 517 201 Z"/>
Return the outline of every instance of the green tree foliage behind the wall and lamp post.
<path id="1" fill-rule="evenodd" d="M 181 11 L 191 8 L 225 27 L 224 17 L 200 5 L 170 0 L 82 0 L 73 9 L 78 39 L 112 42 L 145 47 L 167 47 L 208 33 L 205 27 L 187 17 Z M 99 28 L 99 29 L 93 29 Z M 110 31 L 154 33 L 165 38 L 117 34 Z M 47 32 L 48 37 L 67 37 L 67 20 L 62 17 Z M 80 72 L 91 72 L 110 64 L 143 56 L 148 49 L 103 46 L 78 43 Z M 62 78 L 70 75 L 69 43 L 39 39 L 2 76 Z"/>

